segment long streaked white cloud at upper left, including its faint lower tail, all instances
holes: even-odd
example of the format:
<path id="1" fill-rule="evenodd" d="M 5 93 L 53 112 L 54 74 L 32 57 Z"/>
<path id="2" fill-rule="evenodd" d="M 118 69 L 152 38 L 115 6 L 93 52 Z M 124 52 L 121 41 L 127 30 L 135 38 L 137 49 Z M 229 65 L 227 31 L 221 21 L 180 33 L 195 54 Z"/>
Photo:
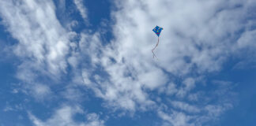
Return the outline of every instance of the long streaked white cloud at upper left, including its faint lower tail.
<path id="1" fill-rule="evenodd" d="M 76 65 L 73 60 L 67 61 L 73 32 L 62 28 L 51 1 L 1 1 L 0 6 L 3 24 L 18 42 L 12 46 L 21 60 L 17 78 L 27 83 L 24 87 L 31 88 L 36 96 L 46 96 L 50 92 L 48 85 L 58 82 L 69 63 Z"/>

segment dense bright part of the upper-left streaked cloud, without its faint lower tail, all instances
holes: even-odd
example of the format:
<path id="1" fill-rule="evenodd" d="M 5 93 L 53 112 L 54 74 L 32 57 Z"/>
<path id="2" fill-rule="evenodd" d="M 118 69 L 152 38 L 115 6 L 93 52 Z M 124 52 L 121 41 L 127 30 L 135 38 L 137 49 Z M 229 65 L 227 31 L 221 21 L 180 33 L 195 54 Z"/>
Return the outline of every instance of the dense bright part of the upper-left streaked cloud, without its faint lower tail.
<path id="1" fill-rule="evenodd" d="M 69 40 L 55 15 L 54 4 L 26 0 L 2 1 L 1 6 L 1 16 L 8 31 L 19 41 L 14 52 L 21 58 L 30 59 L 32 62 L 27 65 L 35 64 L 36 70 L 55 76 L 65 72 Z"/>

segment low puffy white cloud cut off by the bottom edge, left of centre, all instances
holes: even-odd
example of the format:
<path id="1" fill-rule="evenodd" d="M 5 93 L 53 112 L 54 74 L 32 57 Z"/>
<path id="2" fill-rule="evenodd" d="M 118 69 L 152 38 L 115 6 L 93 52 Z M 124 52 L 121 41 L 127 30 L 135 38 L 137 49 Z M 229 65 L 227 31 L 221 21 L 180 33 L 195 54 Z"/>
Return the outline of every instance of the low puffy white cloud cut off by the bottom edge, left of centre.
<path id="1" fill-rule="evenodd" d="M 32 113 L 28 113 L 28 117 L 36 126 L 104 126 L 104 120 L 100 120 L 96 113 L 88 113 L 85 122 L 77 122 L 77 120 L 74 120 L 74 116 L 78 113 L 84 115 L 85 112 L 79 107 L 62 106 L 55 110 L 55 113 L 45 121 L 38 119 Z"/>

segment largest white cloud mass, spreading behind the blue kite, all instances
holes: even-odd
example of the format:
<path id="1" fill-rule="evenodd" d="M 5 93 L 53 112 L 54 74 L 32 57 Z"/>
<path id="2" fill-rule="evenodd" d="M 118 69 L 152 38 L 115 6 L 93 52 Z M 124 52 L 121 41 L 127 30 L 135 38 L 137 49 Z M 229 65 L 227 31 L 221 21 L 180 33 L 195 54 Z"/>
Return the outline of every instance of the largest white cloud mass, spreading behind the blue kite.
<path id="1" fill-rule="evenodd" d="M 90 83 L 86 85 L 95 91 L 96 96 L 104 98 L 107 106 L 128 111 L 156 109 L 159 107 L 157 101 L 165 104 L 164 100 L 154 99 L 162 99 L 154 96 L 154 91 L 159 91 L 160 95 L 171 95 L 181 100 L 171 102 L 172 107 L 179 109 L 171 110 L 179 115 L 171 117 L 173 125 L 193 125 L 199 119 L 199 124 L 203 124 L 206 122 L 202 121 L 204 118 L 208 118 L 207 121 L 213 119 L 209 111 L 197 108 L 212 108 L 206 107 L 207 104 L 222 108 L 218 106 L 229 105 L 231 101 L 210 105 L 210 101 L 216 100 L 212 98 L 213 94 L 221 91 L 213 87 L 207 96 L 205 94 L 208 93 L 200 87 L 211 84 L 205 83 L 208 80 L 204 77 L 206 73 L 220 72 L 228 57 L 239 51 L 236 48 L 239 45 L 237 36 L 243 34 L 240 31 L 247 25 L 243 21 L 247 20 L 249 2 L 115 1 L 118 9 L 111 13 L 115 19 L 115 39 L 107 46 L 100 43 L 98 33 L 92 35 L 92 39 L 86 35 L 81 39 L 81 49 L 87 47 L 84 51 L 90 52 L 89 65 L 93 67 L 89 72 L 99 69 L 101 72 L 95 75 L 84 69 L 83 72 L 87 73 L 85 80 Z M 159 60 L 154 61 L 150 50 L 157 41 L 152 33 L 156 24 L 164 31 L 156 50 Z M 253 35 L 250 34 L 250 37 Z M 100 76 L 101 80 L 94 80 L 95 76 Z M 191 105 L 186 100 L 197 104 Z M 200 100 L 205 103 L 198 102 Z M 224 108 L 220 111 L 232 107 Z M 194 116 L 199 119 L 189 116 L 187 112 L 198 113 Z M 167 115 L 171 114 L 167 112 Z"/>

